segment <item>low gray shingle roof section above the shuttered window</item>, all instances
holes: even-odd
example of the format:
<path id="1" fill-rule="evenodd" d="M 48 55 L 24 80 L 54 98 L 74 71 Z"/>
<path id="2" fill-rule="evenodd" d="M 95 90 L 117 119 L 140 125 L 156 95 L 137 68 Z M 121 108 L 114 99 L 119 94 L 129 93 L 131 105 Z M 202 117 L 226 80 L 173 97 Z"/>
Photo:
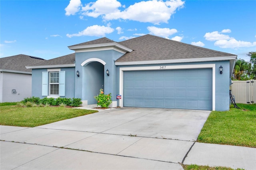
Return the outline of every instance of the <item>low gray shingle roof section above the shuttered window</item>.
<path id="1" fill-rule="evenodd" d="M 54 68 L 54 67 L 74 67 L 75 53 L 64 55 L 40 63 L 26 65 L 26 68 Z"/>

